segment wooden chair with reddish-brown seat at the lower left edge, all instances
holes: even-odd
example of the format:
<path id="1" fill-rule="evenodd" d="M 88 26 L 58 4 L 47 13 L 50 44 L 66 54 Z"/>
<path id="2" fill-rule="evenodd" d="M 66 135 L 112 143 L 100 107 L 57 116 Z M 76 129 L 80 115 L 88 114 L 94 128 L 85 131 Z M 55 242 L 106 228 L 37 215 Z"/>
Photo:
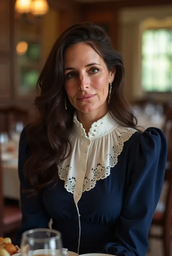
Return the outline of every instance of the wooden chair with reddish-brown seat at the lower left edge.
<path id="1" fill-rule="evenodd" d="M 0 158 L 0 236 L 17 231 L 21 225 L 21 210 L 18 206 L 6 206 L 2 191 L 2 164 Z"/>

